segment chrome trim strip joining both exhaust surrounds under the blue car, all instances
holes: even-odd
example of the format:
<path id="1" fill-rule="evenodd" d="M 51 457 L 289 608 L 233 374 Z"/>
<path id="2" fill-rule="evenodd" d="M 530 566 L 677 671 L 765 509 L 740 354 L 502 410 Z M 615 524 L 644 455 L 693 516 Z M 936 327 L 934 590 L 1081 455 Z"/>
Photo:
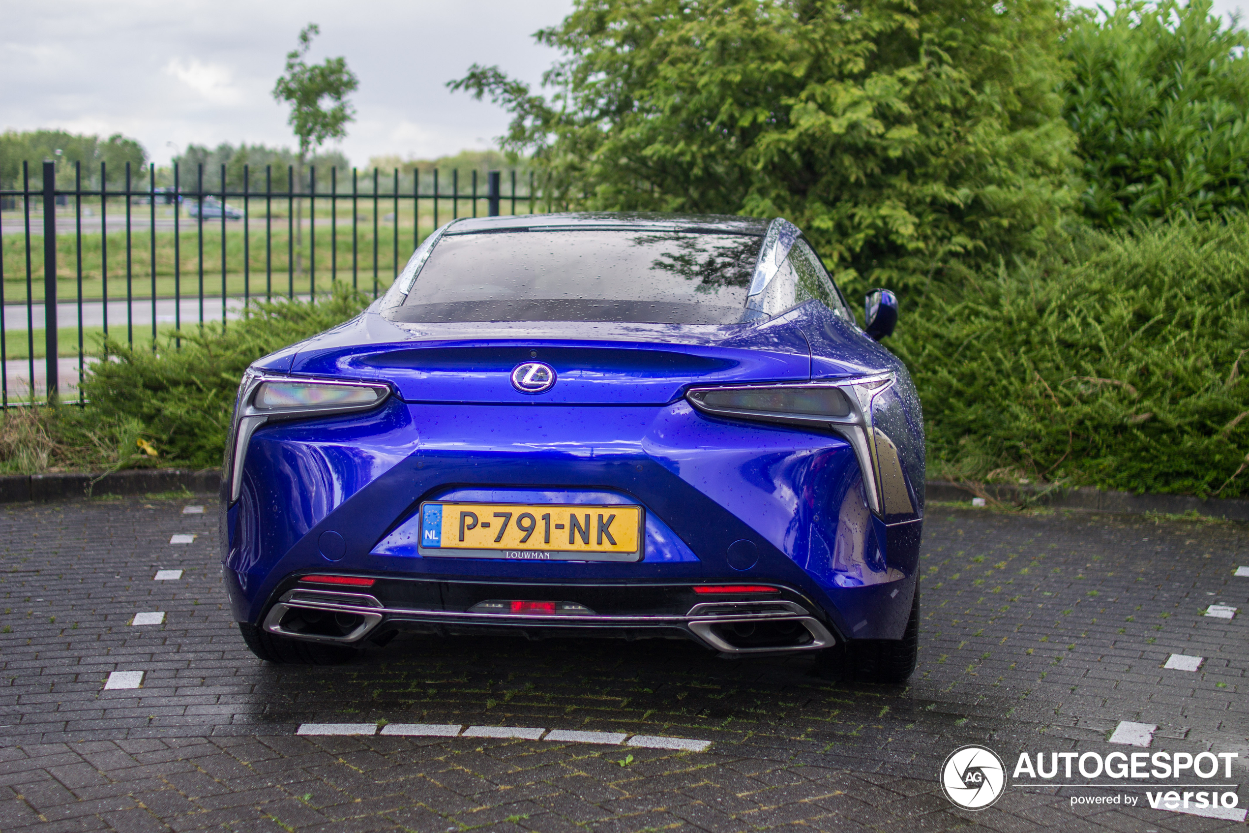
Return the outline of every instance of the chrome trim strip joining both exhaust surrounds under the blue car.
<path id="1" fill-rule="evenodd" d="M 311 611 L 320 613 L 358 616 L 361 622 L 341 636 L 309 633 L 284 626 L 284 619 L 291 613 Z M 265 617 L 264 628 L 294 639 L 322 642 L 330 644 L 351 644 L 360 642 L 383 621 L 427 622 L 442 624 L 487 624 L 512 628 L 681 628 L 703 646 L 722 656 L 738 654 L 778 654 L 799 651 L 818 651 L 836 644 L 833 634 L 812 617 L 801 604 L 788 601 L 743 601 L 743 602 L 701 602 L 689 608 L 684 616 L 543 616 L 508 613 L 470 613 L 458 611 L 422 611 L 408 608 L 387 608 L 377 598 L 367 593 L 343 593 L 338 591 L 317 591 L 296 588 L 282 594 Z M 768 647 L 734 646 L 716 633 L 718 626 L 758 626 L 768 623 L 797 624 L 806 629 L 811 641 L 801 644 L 782 644 Z"/>

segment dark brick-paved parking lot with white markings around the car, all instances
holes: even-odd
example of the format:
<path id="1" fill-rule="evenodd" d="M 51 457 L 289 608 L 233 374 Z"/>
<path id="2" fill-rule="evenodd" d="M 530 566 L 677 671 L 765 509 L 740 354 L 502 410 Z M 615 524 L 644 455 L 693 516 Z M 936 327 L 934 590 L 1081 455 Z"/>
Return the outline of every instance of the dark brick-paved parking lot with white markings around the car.
<path id="1" fill-rule="evenodd" d="M 400 637 L 343 667 L 269 666 L 230 621 L 216 523 L 210 497 L 0 507 L 0 829 L 1243 829 L 1244 526 L 931 506 L 921 664 L 886 687 L 667 641 Z M 415 723 L 712 743 L 376 728 Z M 1008 773 L 1020 752 L 1238 753 L 1210 783 L 1239 809 L 1149 807 L 1188 774 L 1014 778 L 960 811 L 938 772 L 973 743 Z M 1095 797 L 1119 803 L 1073 806 Z"/>

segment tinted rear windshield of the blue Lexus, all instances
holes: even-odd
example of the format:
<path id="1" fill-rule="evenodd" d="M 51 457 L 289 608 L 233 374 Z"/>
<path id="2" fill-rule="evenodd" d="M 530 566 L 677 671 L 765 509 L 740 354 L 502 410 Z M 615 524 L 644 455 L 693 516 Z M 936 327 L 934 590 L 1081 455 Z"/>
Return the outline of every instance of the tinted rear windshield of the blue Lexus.
<path id="1" fill-rule="evenodd" d="M 438 241 L 390 316 L 442 321 L 742 320 L 762 237 L 508 231 Z"/>

